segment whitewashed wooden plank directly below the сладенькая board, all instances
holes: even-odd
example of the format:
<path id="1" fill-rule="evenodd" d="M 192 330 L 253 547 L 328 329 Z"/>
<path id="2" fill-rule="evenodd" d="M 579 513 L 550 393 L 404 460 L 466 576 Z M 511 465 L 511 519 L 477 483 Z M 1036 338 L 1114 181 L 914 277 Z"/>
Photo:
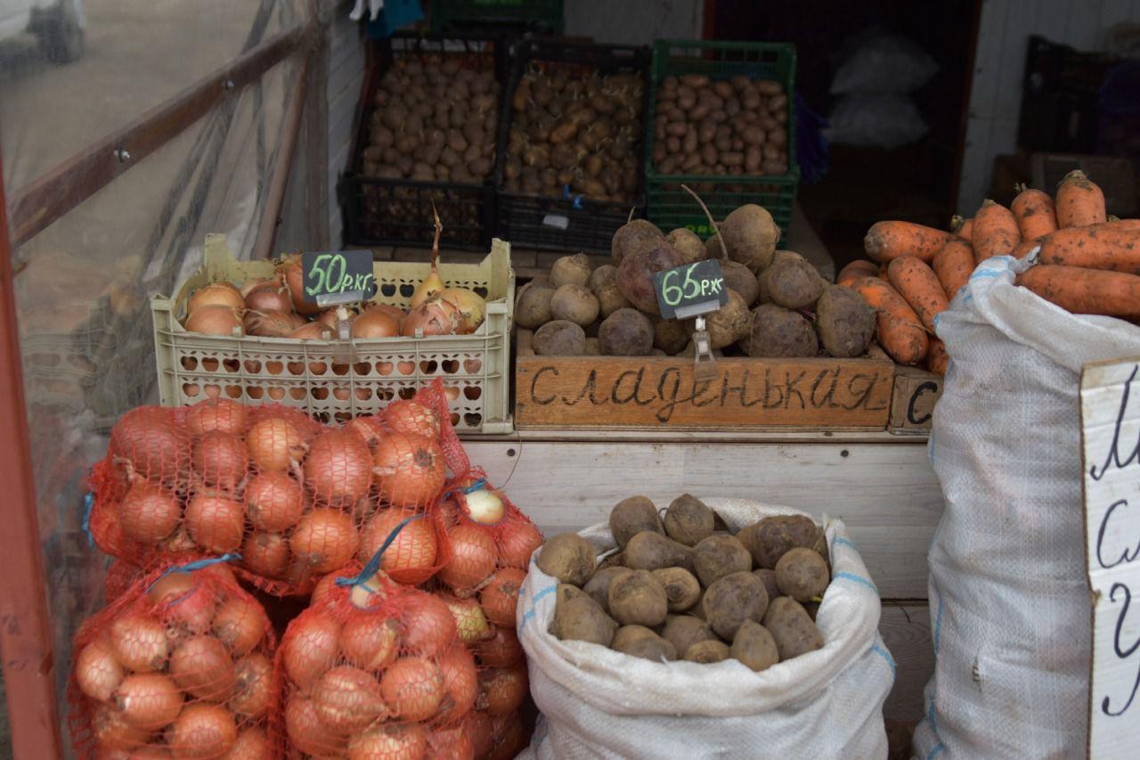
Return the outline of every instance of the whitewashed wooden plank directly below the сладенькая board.
<path id="1" fill-rule="evenodd" d="M 466 440 L 484 468 L 547 535 L 605 522 L 644 494 L 757 499 L 842 519 L 883 598 L 925 599 L 927 547 L 942 490 L 926 447 L 874 445 Z"/>

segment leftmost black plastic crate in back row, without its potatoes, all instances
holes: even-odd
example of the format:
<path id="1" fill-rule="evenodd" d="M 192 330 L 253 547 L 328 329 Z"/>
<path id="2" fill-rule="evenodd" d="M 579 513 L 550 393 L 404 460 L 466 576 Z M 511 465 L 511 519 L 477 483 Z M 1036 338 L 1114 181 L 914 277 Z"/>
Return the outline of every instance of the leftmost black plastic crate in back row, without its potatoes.
<path id="1" fill-rule="evenodd" d="M 339 184 L 347 245 L 431 246 L 434 236 L 432 203 L 443 223 L 440 244 L 487 250 L 495 231 L 495 171 L 479 183 L 420 181 L 384 178 L 365 172 L 364 148 L 369 144 L 370 118 L 377 108 L 374 94 L 394 60 L 454 57 L 462 66 L 494 71 L 506 92 L 510 72 L 507 45 L 499 35 L 397 34 L 376 40 L 368 50 L 367 73 L 357 105 L 348 167 Z M 498 132 L 494 135 L 498 149 Z"/>

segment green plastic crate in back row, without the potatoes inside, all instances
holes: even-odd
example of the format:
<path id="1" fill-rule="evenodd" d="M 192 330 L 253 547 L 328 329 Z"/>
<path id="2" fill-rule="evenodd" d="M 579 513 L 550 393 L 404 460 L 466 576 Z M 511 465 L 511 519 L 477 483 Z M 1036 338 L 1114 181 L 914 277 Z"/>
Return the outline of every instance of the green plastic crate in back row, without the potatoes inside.
<path id="1" fill-rule="evenodd" d="M 657 88 L 666 76 L 706 74 L 728 79 L 744 74 L 751 79 L 774 79 L 788 94 L 788 173 L 748 175 L 661 175 L 653 169 Z M 645 189 L 649 219 L 663 231 L 689 227 L 701 236 L 711 234 L 708 218 L 693 197 L 682 189 L 687 185 L 709 207 L 714 218 L 724 219 L 746 203 L 763 205 L 788 234 L 799 186 L 796 163 L 796 46 L 789 42 L 723 42 L 717 40 L 658 40 L 653 43 L 650 76 L 649 120 L 645 139 Z"/>

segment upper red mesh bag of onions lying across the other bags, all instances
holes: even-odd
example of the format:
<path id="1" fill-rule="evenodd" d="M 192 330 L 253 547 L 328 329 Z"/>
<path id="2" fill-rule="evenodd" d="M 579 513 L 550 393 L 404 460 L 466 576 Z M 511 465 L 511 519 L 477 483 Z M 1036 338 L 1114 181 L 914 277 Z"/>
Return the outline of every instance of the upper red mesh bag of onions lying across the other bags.
<path id="1" fill-rule="evenodd" d="M 439 496 L 467 469 L 439 381 L 340 428 L 220 398 L 139 407 L 92 468 L 89 525 L 104 551 L 142 566 L 239 552 L 239 575 L 293 595 L 367 560 L 404 517 L 424 515 L 384 559 L 414 584 L 450 557 Z"/>

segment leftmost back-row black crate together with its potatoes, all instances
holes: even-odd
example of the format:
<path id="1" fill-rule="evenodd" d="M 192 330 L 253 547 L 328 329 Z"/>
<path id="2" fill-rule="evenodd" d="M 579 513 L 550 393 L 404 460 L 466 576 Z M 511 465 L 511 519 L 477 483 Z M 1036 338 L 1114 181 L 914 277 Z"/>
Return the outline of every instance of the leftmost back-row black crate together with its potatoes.
<path id="1" fill-rule="evenodd" d="M 507 79 L 494 35 L 399 34 L 368 51 L 349 165 L 344 242 L 484 250 L 495 228 L 495 154 Z"/>

